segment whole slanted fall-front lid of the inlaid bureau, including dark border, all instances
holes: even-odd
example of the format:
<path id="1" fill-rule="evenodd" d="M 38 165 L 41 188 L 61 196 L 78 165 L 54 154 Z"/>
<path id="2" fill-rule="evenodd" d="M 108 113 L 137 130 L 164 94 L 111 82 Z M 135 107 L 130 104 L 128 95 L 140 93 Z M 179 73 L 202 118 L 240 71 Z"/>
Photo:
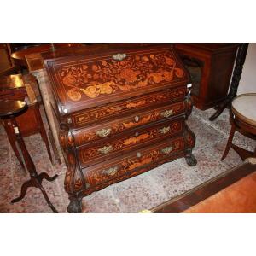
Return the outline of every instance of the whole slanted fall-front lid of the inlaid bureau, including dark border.
<path id="1" fill-rule="evenodd" d="M 44 59 L 44 66 L 61 114 L 189 83 L 171 45 L 87 51 Z"/>

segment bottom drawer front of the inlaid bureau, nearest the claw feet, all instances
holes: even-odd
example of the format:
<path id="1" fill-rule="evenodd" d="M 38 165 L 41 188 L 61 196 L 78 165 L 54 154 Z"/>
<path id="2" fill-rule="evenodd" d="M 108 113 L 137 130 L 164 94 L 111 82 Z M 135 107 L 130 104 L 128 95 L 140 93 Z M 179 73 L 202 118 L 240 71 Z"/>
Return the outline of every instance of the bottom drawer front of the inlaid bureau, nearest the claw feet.
<path id="1" fill-rule="evenodd" d="M 183 137 L 177 137 L 168 143 L 158 143 L 144 148 L 143 151 L 136 151 L 119 159 L 116 158 L 105 161 L 103 164 L 90 166 L 83 169 L 86 186 L 90 188 L 90 186 L 107 183 L 117 177 L 132 176 L 132 172 L 137 172 L 139 169 L 153 165 L 157 161 L 166 158 L 172 159 L 172 156 L 182 153 L 183 149 Z"/>

